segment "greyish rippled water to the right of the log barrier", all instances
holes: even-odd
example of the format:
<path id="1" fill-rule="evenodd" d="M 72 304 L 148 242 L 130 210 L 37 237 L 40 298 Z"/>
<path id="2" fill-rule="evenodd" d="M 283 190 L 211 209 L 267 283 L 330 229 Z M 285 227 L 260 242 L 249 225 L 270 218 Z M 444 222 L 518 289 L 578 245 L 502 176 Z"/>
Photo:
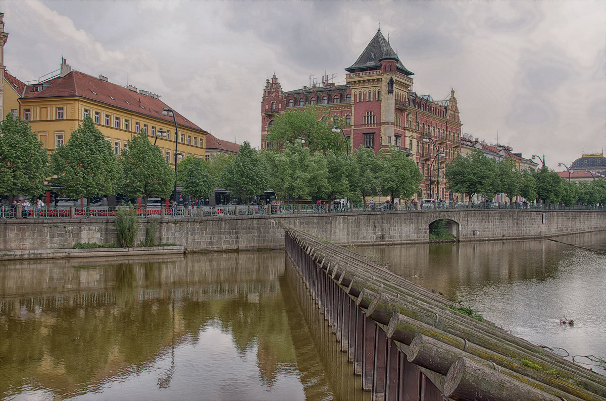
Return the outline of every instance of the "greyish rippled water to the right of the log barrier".
<path id="1" fill-rule="evenodd" d="M 606 231 L 556 238 L 606 251 Z M 606 255 L 550 240 L 358 247 L 394 273 L 471 306 L 516 336 L 606 359 Z M 559 317 L 574 326 L 559 323 Z M 586 361 L 588 362 L 588 361 Z M 597 366 L 594 370 L 606 374 Z"/>

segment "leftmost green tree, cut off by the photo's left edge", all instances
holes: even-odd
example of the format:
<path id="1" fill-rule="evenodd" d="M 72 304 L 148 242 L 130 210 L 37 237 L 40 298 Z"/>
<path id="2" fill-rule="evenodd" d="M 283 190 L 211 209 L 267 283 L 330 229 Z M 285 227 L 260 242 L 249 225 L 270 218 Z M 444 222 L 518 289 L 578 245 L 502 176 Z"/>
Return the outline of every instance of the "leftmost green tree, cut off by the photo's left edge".
<path id="1" fill-rule="evenodd" d="M 8 113 L 0 123 L 0 194 L 39 196 L 48 177 L 48 156 L 30 125 Z"/>

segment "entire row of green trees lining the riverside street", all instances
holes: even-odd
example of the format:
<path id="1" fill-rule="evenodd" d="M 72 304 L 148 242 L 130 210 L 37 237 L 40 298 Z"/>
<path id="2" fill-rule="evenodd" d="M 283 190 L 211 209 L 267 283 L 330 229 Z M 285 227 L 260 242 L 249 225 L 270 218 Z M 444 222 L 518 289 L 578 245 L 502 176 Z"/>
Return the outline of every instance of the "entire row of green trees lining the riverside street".
<path id="1" fill-rule="evenodd" d="M 342 197 L 365 202 L 377 194 L 411 199 L 418 193 L 422 174 L 403 152 L 385 149 L 375 154 L 361 147 L 349 156 L 344 142 L 317 116 L 298 113 L 302 115 L 276 118 L 278 130 L 272 132 L 280 150 L 258 151 L 244 142 L 237 155 L 213 155 L 210 161 L 189 156 L 179 162 L 177 177 L 145 131 L 134 134 L 117 157 L 87 116 L 49 161 L 28 123 L 7 114 L 0 124 L 0 194 L 39 196 L 47 181 L 62 187 L 62 195 L 70 199 L 119 193 L 128 199 L 142 197 L 147 204 L 150 196 L 169 198 L 175 179 L 182 193 L 195 199 L 212 196 L 216 187 L 227 188 L 243 201 L 269 188 L 284 199 L 329 202 Z M 307 131 L 296 130 L 299 125 Z M 469 199 L 505 193 L 510 202 L 520 196 L 571 205 L 602 204 L 606 197 L 602 180 L 570 184 L 545 167 L 519 171 L 511 159 L 496 161 L 479 150 L 449 162 L 444 176 L 450 190 Z"/>

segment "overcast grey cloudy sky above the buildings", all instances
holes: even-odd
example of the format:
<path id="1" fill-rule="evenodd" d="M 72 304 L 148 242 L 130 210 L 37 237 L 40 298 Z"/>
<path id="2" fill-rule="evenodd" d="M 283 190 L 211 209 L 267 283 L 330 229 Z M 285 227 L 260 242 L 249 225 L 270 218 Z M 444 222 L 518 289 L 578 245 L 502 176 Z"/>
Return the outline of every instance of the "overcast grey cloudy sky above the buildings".
<path id="1" fill-rule="evenodd" d="M 547 165 L 606 144 L 606 2 L 0 0 L 8 71 L 105 75 L 216 137 L 261 144 L 261 97 L 327 74 L 344 82 L 378 24 L 414 90 L 454 88 L 463 131 Z"/>

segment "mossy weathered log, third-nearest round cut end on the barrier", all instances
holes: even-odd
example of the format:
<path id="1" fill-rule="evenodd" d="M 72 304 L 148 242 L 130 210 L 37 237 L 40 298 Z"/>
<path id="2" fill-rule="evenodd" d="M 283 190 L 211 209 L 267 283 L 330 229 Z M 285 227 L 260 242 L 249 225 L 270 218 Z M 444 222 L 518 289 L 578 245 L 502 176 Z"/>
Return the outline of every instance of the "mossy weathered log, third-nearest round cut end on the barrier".
<path id="1" fill-rule="evenodd" d="M 460 337 L 452 336 L 451 334 L 438 330 L 435 327 L 425 325 L 424 323 L 418 322 L 417 320 L 411 319 L 410 317 L 398 314 L 394 316 L 393 319 L 391 319 L 389 325 L 387 326 L 387 337 L 392 340 L 404 343 L 406 345 L 410 345 L 408 347 L 409 355 L 413 353 L 413 350 L 411 350 L 413 339 L 415 339 L 415 337 L 419 334 L 431 337 L 432 339 L 436 339 L 444 345 L 444 348 L 446 346 L 451 346 L 452 348 L 462 350 L 467 354 L 476 356 L 482 360 L 486 360 L 490 364 L 495 363 L 496 365 L 503 366 L 508 370 L 519 373 L 523 376 L 530 377 L 536 382 L 545 383 L 548 386 L 560 389 L 561 391 L 571 394 L 574 397 L 578 397 L 579 399 L 591 401 L 598 401 L 601 399 L 600 397 L 597 397 L 595 394 L 591 393 L 591 391 L 593 391 L 592 388 L 581 388 L 566 380 L 562 380 L 559 377 L 545 373 L 544 371 L 534 370 L 528 366 L 522 365 L 522 363 L 520 363 L 518 359 L 505 357 L 501 354 L 475 345 L 474 343 L 467 342 L 466 340 L 461 339 Z M 456 356 L 455 351 L 450 351 L 450 353 L 450 358 Z M 467 354 L 465 355 L 467 356 Z M 441 356 L 445 359 L 448 359 L 448 355 L 448 353 L 441 354 Z M 524 354 L 520 354 L 518 356 L 521 357 L 519 359 L 525 359 Z M 459 356 L 456 357 L 458 358 Z M 456 358 L 454 358 L 454 360 L 456 360 Z M 436 365 L 433 365 L 431 367 L 424 367 L 436 371 L 438 373 L 445 374 L 448 371 L 449 366 L 454 362 L 454 360 L 439 360 L 439 362 L 436 362 Z M 419 365 L 423 366 L 421 363 L 419 363 Z M 528 380 L 522 381 L 529 385 L 531 383 Z M 589 385 L 591 387 L 591 383 Z"/>

